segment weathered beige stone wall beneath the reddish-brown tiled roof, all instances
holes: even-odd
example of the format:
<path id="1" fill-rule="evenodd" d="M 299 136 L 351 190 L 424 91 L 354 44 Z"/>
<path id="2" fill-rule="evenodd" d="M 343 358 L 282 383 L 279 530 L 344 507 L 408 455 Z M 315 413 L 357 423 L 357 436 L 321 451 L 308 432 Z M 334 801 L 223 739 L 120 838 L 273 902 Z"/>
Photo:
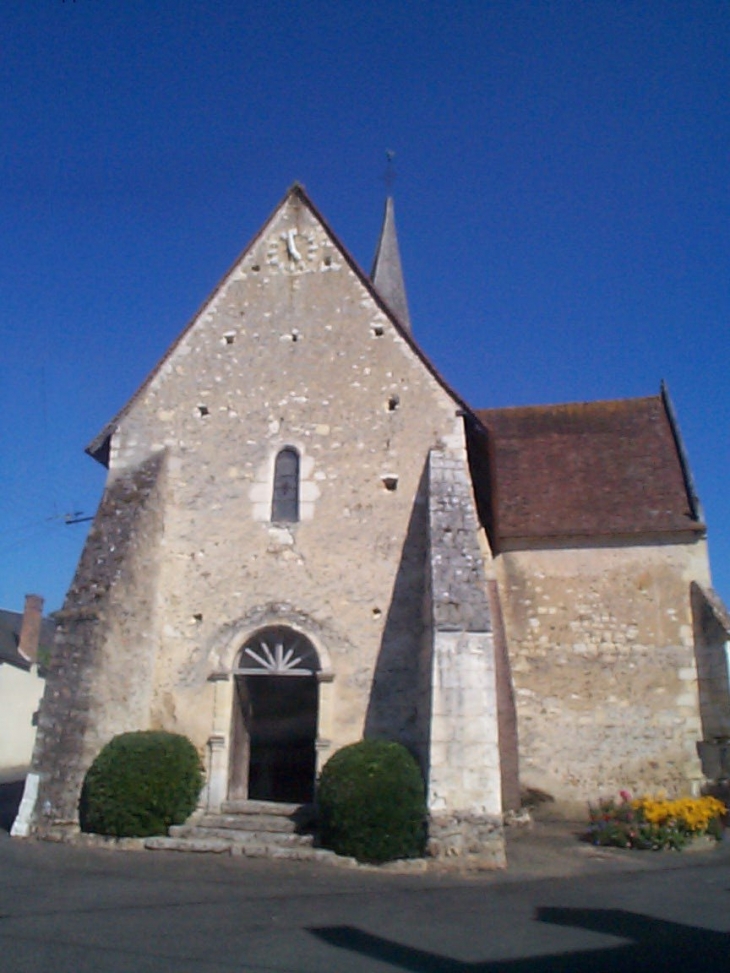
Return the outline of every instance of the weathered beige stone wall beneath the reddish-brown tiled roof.
<path id="1" fill-rule="evenodd" d="M 511 551 L 496 559 L 523 788 L 561 802 L 686 792 L 701 774 L 690 583 L 703 542 Z"/>

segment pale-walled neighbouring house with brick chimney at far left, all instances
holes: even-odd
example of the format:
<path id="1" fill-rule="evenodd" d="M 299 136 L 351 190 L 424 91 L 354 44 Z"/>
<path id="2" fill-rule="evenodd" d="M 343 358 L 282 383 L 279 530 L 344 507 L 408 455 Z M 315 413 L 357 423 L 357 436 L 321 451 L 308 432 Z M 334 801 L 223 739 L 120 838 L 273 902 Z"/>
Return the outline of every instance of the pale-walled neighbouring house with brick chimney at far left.
<path id="1" fill-rule="evenodd" d="M 22 780 L 30 767 L 54 635 L 42 612 L 38 595 L 26 597 L 23 612 L 0 609 L 0 782 Z"/>

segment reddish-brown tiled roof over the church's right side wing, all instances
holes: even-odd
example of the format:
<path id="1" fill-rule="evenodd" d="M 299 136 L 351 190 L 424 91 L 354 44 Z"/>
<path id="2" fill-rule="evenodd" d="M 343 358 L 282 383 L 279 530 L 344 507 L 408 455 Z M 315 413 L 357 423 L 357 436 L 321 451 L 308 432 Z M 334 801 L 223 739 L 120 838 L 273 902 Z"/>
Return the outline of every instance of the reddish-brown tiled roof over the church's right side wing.
<path id="1" fill-rule="evenodd" d="M 704 529 L 664 395 L 476 414 L 487 446 L 472 466 L 497 549 L 510 538 Z"/>

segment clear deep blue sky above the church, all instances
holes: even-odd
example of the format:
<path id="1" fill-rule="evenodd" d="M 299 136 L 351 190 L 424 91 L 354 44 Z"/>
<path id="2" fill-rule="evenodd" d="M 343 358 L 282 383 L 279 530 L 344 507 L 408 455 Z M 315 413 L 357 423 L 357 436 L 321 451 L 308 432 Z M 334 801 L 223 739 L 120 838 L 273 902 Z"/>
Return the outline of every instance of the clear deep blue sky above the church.
<path id="1" fill-rule="evenodd" d="M 2 4 L 0 606 L 60 607 L 84 446 L 295 180 L 474 407 L 674 400 L 730 600 L 730 4 Z"/>

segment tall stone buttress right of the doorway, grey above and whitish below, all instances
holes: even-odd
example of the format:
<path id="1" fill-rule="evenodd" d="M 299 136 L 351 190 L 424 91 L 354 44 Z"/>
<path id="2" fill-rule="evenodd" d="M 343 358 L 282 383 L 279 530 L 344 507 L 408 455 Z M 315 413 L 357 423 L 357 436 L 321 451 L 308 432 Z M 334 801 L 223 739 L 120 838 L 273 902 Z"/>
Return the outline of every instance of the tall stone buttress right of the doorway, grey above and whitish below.
<path id="1" fill-rule="evenodd" d="M 428 484 L 429 851 L 503 865 L 494 638 L 465 450 L 432 450 Z"/>

